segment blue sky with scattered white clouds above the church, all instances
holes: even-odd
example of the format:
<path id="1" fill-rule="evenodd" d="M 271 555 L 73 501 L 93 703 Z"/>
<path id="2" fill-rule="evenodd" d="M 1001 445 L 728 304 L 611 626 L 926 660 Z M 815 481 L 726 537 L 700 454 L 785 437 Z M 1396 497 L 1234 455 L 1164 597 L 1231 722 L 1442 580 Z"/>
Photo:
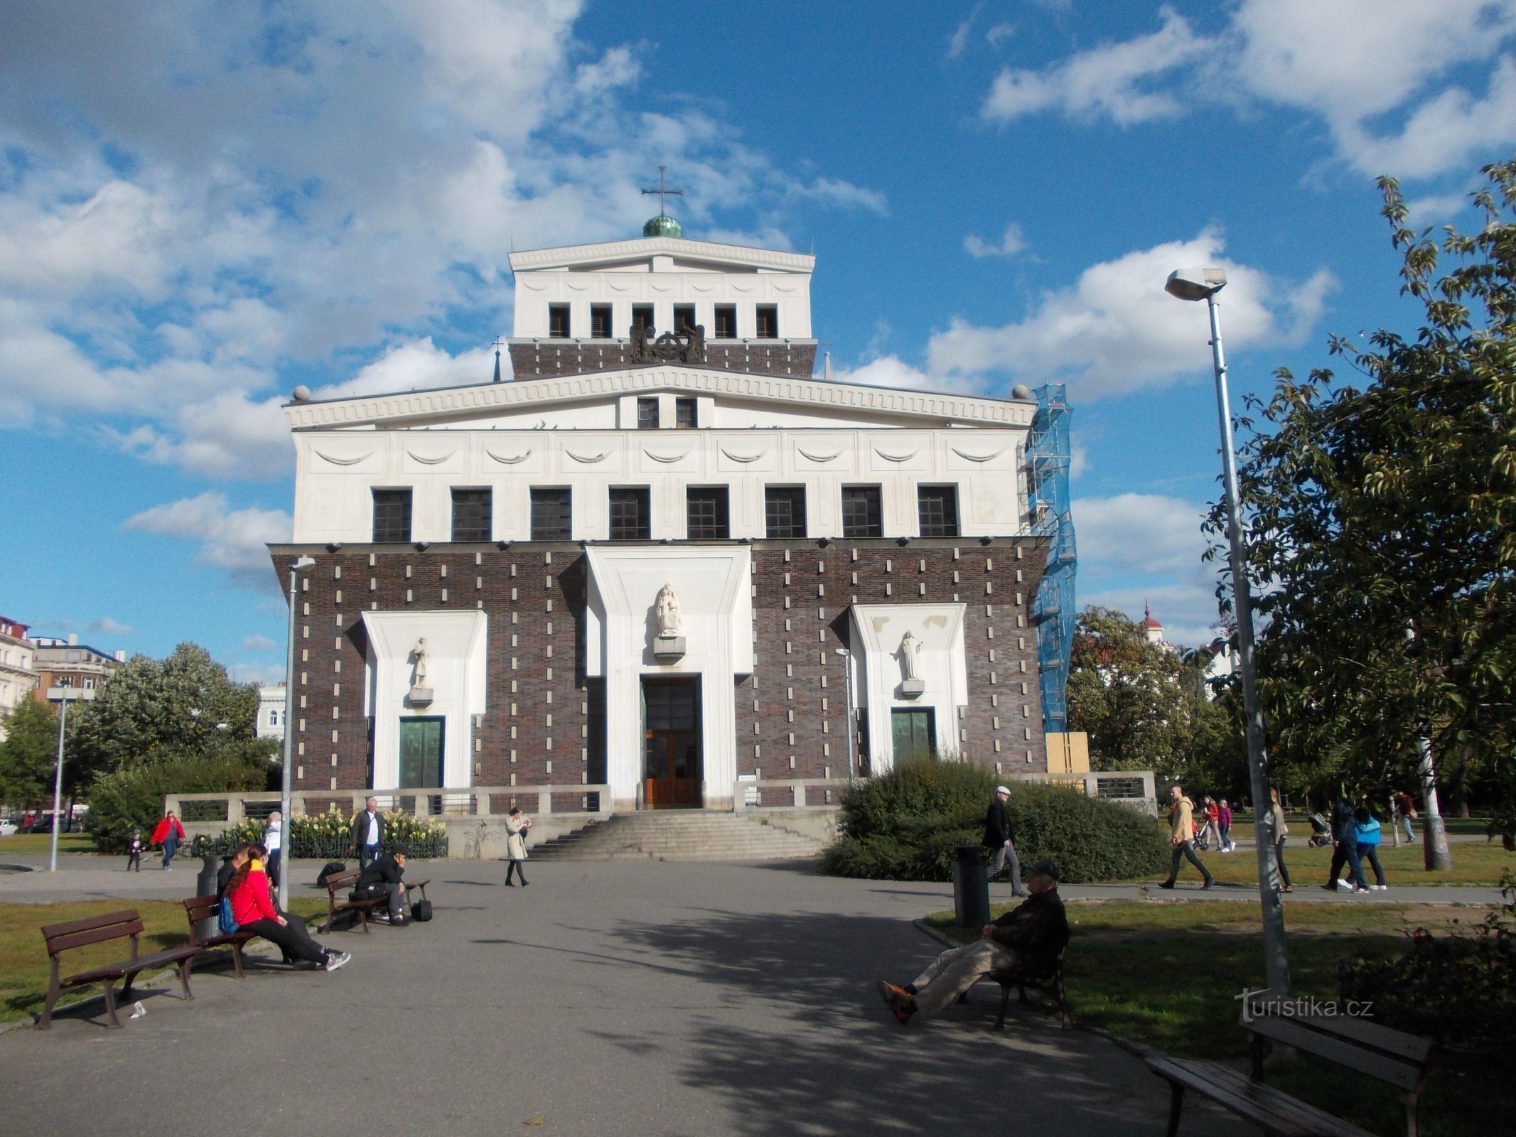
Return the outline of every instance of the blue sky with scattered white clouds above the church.
<path id="1" fill-rule="evenodd" d="M 867 18 L 860 12 L 867 11 Z M 0 612 L 282 675 L 279 403 L 484 381 L 506 253 L 640 232 L 814 250 L 861 382 L 1069 384 L 1079 602 L 1216 622 L 1202 305 L 1233 394 L 1414 329 L 1373 177 L 1478 218 L 1516 2 L 444 5 L 0 12 Z"/>

